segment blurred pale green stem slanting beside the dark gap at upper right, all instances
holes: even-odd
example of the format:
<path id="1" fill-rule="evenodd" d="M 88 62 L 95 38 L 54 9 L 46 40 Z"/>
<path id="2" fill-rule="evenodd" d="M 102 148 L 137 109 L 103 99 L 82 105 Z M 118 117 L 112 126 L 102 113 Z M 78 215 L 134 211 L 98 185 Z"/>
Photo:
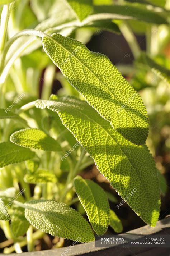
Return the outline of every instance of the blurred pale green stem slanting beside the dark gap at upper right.
<path id="1" fill-rule="evenodd" d="M 134 36 L 134 33 L 131 29 L 131 27 L 128 25 L 127 22 L 122 22 L 120 26 L 120 30 L 128 42 L 128 45 L 133 53 L 134 58 L 138 58 L 141 54 L 140 46 L 138 45 L 138 42 L 136 40 L 136 37 Z"/>

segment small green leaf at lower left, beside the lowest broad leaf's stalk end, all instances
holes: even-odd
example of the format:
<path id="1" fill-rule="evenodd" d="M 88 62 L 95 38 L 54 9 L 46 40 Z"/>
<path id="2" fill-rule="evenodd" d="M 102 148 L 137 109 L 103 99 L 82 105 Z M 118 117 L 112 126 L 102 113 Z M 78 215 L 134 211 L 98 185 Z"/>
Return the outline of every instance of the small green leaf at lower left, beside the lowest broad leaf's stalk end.
<path id="1" fill-rule="evenodd" d="M 21 207 L 17 207 L 11 218 L 11 231 L 14 237 L 18 238 L 19 236 L 24 236 L 27 232 L 30 223 L 25 218 L 24 209 Z"/>

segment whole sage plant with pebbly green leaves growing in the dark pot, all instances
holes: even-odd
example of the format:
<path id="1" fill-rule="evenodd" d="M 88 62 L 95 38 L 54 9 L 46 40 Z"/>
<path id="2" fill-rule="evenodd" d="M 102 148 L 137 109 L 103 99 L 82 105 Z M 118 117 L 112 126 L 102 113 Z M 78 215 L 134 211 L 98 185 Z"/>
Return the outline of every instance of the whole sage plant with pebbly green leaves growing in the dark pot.
<path id="1" fill-rule="evenodd" d="M 152 51 L 141 52 L 133 30 L 147 28 L 151 49 L 154 27 L 169 33 L 168 6 L 120 2 L 0 0 L 0 225 L 14 243 L 4 253 L 25 245 L 32 251 L 45 233 L 83 243 L 109 225 L 122 232 L 109 206 L 113 195 L 81 175 L 93 164 L 145 223 L 156 225 L 166 187 L 146 145 L 149 119 L 136 85 L 146 87 L 140 72 L 149 70 L 166 86 L 170 72 Z M 107 56 L 85 46 L 102 30 L 127 40 L 135 58 L 131 84 Z"/>

